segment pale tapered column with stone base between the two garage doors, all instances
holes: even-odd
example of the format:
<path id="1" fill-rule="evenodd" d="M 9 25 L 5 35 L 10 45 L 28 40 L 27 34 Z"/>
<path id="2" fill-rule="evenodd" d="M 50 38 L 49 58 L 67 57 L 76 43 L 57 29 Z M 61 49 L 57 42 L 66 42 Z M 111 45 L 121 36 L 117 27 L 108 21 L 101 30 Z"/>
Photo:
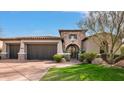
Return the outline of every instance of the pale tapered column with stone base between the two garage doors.
<path id="1" fill-rule="evenodd" d="M 27 59 L 26 58 L 26 53 L 25 53 L 25 44 L 24 44 L 23 41 L 21 41 L 21 44 L 20 44 L 20 50 L 19 50 L 19 53 L 18 53 L 18 59 L 19 60 Z"/>

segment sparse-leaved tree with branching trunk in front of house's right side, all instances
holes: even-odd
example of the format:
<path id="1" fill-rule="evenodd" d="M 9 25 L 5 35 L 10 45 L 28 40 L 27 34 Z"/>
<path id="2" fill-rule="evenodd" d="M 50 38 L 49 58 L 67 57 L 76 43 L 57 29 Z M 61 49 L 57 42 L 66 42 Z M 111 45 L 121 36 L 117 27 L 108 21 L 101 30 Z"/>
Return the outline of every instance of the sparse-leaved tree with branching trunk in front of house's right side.
<path id="1" fill-rule="evenodd" d="M 124 38 L 123 11 L 92 11 L 86 20 L 78 23 L 80 28 L 88 28 L 89 35 L 94 35 L 96 43 L 108 55 L 107 61 L 114 62 L 114 56 L 122 45 Z M 108 49 L 109 48 L 109 49 Z"/>

